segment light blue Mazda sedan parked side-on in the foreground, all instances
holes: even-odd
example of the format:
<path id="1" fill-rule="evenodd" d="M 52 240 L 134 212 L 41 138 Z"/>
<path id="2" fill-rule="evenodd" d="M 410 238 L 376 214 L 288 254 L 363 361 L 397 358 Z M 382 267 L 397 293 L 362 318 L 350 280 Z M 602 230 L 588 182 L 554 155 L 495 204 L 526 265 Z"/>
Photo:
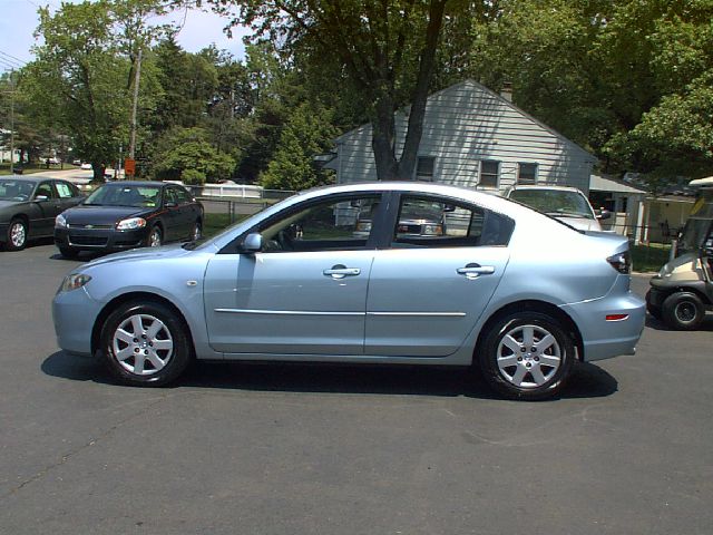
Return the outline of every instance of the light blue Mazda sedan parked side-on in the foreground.
<path id="1" fill-rule="evenodd" d="M 418 206 L 442 207 L 442 233 L 402 228 Z M 203 243 L 84 264 L 52 312 L 60 348 L 98 356 L 127 385 L 169 383 L 192 359 L 476 364 L 500 393 L 540 399 L 576 360 L 634 353 L 645 305 L 629 269 L 626 237 L 505 198 L 352 184 L 303 192 Z"/>

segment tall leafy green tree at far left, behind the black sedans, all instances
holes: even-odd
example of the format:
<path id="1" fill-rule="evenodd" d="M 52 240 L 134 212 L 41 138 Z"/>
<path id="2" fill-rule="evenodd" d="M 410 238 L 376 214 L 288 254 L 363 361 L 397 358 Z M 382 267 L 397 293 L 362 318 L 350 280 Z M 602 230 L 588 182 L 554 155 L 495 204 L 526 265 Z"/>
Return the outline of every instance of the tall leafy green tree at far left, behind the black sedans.
<path id="1" fill-rule="evenodd" d="M 127 146 L 133 55 L 156 35 L 140 22 L 154 8 L 162 11 L 158 0 L 62 3 L 55 13 L 39 9 L 36 33 L 43 42 L 22 70 L 21 93 L 35 120 L 71 136 L 74 154 L 92 164 L 96 179 L 118 147 Z M 139 108 L 147 110 L 155 108 L 155 84 L 148 66 L 143 74 L 149 90 L 140 93 Z"/>

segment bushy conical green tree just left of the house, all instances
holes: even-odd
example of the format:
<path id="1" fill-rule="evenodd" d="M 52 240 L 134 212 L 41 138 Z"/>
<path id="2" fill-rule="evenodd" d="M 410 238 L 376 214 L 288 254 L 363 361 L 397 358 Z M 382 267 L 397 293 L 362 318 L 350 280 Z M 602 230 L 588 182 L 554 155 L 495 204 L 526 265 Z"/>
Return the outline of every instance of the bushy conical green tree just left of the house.
<path id="1" fill-rule="evenodd" d="M 333 173 L 314 165 L 314 156 L 329 150 L 336 136 L 331 116 L 330 110 L 309 104 L 293 110 L 267 171 L 260 176 L 263 187 L 300 191 L 333 182 Z"/>

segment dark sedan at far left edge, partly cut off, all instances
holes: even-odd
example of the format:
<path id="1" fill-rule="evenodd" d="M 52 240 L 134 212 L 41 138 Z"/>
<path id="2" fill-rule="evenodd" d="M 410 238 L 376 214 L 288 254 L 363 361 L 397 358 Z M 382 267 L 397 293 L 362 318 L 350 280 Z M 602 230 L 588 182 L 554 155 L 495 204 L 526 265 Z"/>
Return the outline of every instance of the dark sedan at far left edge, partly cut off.
<path id="1" fill-rule="evenodd" d="M 0 176 L 0 245 L 25 249 L 28 240 L 52 235 L 55 217 L 84 196 L 72 183 L 47 176 Z"/>

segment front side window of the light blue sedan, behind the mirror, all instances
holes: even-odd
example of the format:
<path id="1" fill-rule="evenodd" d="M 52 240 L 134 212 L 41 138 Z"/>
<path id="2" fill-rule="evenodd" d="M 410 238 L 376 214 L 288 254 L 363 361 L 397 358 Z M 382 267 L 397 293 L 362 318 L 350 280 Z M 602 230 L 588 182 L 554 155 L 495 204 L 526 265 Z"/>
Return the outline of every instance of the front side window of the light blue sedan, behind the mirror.
<path id="1" fill-rule="evenodd" d="M 323 201 L 258 228 L 265 252 L 358 250 L 367 245 L 379 195 Z M 255 232 L 255 231 L 253 231 Z"/>

